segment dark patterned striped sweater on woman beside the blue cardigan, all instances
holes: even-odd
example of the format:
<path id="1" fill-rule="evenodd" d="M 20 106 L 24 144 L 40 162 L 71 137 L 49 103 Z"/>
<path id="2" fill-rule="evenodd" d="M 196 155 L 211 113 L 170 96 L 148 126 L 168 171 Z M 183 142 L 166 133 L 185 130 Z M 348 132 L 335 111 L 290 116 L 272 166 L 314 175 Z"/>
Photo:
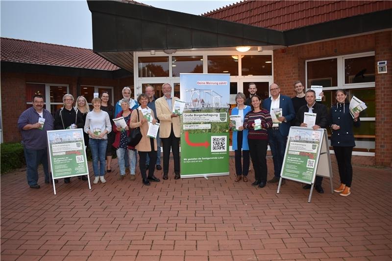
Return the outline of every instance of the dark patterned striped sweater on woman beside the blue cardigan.
<path id="1" fill-rule="evenodd" d="M 254 120 L 261 119 L 261 129 L 255 131 L 252 127 Z M 261 109 L 259 112 L 249 111 L 245 115 L 244 128 L 249 130 L 248 139 L 254 140 L 267 140 L 268 132 L 267 129 L 272 127 L 272 119 L 270 112 L 266 109 Z"/>

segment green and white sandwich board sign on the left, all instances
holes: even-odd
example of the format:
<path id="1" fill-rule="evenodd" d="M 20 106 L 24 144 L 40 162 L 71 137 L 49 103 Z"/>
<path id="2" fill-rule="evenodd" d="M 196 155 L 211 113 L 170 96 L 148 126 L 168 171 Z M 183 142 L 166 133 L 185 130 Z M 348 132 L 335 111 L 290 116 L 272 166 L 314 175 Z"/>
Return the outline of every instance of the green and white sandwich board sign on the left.
<path id="1" fill-rule="evenodd" d="M 87 175 L 91 189 L 83 129 L 47 131 L 47 136 L 54 195 L 57 178 Z"/>

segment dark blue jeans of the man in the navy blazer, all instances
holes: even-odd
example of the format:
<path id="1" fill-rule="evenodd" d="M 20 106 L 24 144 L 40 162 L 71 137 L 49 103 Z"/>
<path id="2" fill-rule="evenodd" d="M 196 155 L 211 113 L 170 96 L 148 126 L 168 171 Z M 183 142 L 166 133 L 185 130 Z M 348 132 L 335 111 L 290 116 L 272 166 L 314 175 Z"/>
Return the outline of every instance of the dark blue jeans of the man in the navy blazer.
<path id="1" fill-rule="evenodd" d="M 268 143 L 273 159 L 273 173 L 275 177 L 280 177 L 283 158 L 285 156 L 287 137 L 282 136 L 278 129 L 268 129 Z"/>

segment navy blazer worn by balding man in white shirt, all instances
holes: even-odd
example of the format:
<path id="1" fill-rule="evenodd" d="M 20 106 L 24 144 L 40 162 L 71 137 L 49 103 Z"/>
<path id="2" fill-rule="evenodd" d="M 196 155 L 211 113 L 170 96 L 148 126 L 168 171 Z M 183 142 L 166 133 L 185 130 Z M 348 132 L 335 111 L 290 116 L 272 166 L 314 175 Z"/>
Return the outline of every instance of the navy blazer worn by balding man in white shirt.
<path id="1" fill-rule="evenodd" d="M 268 111 L 271 110 L 271 97 L 264 100 L 263 108 Z M 282 114 L 286 118 L 286 122 L 279 124 L 279 131 L 282 136 L 287 137 L 290 131 L 290 122 L 295 118 L 295 110 L 291 98 L 280 94 L 279 108 L 282 109 Z M 270 132 L 272 130 L 268 129 L 268 131 Z"/>

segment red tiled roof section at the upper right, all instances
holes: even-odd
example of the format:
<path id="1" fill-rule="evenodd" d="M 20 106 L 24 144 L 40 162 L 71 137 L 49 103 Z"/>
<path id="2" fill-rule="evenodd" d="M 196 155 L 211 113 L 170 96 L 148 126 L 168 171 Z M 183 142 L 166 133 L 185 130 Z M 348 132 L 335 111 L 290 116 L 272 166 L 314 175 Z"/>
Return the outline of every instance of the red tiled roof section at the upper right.
<path id="1" fill-rule="evenodd" d="M 392 1 L 249 0 L 222 7 L 203 16 L 285 31 L 390 8 Z"/>

